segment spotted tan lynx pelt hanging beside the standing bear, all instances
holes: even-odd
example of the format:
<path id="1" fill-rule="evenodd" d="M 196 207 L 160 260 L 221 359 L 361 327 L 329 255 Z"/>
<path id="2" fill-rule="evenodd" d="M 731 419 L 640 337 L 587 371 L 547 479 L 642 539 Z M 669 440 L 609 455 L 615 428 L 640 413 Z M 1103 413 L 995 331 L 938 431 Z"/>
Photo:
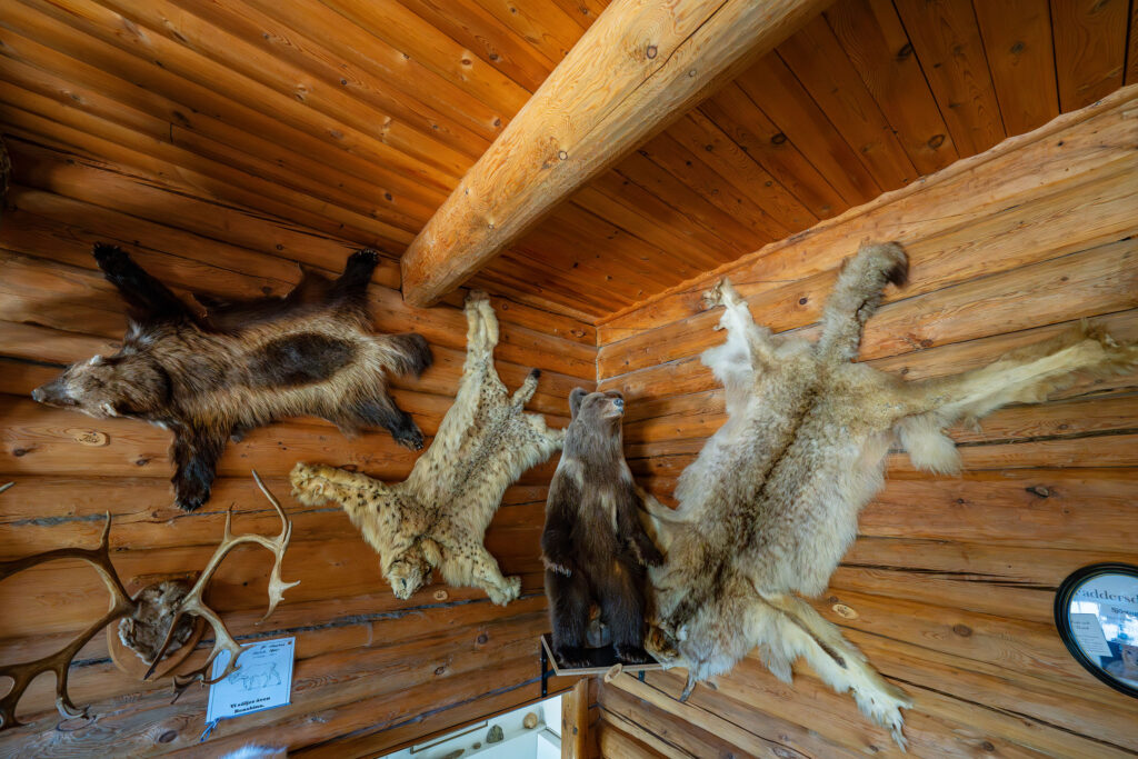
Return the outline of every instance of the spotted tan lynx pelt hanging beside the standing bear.
<path id="1" fill-rule="evenodd" d="M 379 553 L 396 597 L 409 599 L 429 585 L 438 568 L 448 584 L 480 587 L 494 603 L 506 604 L 521 592 L 521 578 L 502 576 L 483 537 L 505 489 L 559 451 L 564 432 L 523 411 L 537 389 L 538 370 L 512 396 L 494 370 L 498 323 L 486 294 L 472 291 L 465 313 L 467 361 L 454 405 L 407 479 L 388 485 L 298 463 L 292 495 L 308 505 L 335 501 L 344 506 Z"/>

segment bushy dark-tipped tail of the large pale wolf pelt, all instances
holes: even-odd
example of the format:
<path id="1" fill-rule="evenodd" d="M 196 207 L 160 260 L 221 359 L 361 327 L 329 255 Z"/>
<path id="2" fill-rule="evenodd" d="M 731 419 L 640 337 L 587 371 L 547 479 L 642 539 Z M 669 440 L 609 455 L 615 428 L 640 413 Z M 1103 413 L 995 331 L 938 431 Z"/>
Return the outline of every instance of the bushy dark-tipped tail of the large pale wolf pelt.
<path id="1" fill-rule="evenodd" d="M 822 313 L 818 353 L 826 361 L 857 358 L 861 332 L 877 311 L 888 282 L 901 286 L 909 272 L 905 250 L 896 242 L 863 244 L 846 261 Z"/>

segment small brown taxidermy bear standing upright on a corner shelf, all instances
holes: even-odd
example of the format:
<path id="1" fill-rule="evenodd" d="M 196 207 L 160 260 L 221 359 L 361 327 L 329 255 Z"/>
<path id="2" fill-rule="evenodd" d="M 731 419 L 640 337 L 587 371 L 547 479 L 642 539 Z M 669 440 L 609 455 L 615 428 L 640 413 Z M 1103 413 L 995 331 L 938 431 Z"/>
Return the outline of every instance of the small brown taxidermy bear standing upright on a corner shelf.
<path id="1" fill-rule="evenodd" d="M 640 521 L 641 498 L 621 448 L 625 401 L 615 390 L 569 396 L 572 421 L 545 502 L 542 554 L 553 653 L 587 666 L 589 607 L 612 636 L 617 658 L 649 660 L 644 644 L 646 566 L 663 556 Z"/>

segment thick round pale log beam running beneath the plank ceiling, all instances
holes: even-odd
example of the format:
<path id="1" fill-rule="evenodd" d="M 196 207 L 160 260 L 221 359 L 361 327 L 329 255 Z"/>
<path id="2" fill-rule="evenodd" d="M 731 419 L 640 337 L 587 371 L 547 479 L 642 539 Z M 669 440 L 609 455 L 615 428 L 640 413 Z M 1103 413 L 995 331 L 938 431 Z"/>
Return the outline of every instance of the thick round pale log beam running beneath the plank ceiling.
<path id="1" fill-rule="evenodd" d="M 577 188 L 772 50 L 825 0 L 616 0 L 403 255 L 403 297 L 462 284 Z"/>

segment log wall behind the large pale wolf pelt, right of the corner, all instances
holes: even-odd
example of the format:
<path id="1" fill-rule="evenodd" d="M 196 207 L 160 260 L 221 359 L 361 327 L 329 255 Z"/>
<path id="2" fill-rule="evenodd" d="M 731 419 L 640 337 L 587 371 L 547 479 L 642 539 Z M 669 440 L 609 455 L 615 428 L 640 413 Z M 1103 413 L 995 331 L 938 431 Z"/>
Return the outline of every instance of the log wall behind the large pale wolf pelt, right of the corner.
<path id="1" fill-rule="evenodd" d="M 1138 88 L 1007 140 L 904 190 L 602 323 L 601 388 L 626 393 L 626 453 L 667 498 L 724 421 L 699 354 L 723 340 L 700 294 L 728 275 L 760 323 L 813 335 L 840 262 L 901 241 L 861 356 L 915 379 L 982 365 L 1089 317 L 1138 339 Z M 889 457 L 885 489 L 818 610 L 915 699 L 921 757 L 1138 754 L 1138 702 L 1086 673 L 1052 621 L 1074 569 L 1138 562 L 1138 376 L 1086 380 L 1048 403 L 954 429 L 960 477 Z M 853 610 L 839 616 L 834 607 Z M 758 659 L 676 701 L 683 673 L 600 692 L 601 745 L 619 756 L 894 756 L 852 699 L 808 673 L 787 686 Z"/>

